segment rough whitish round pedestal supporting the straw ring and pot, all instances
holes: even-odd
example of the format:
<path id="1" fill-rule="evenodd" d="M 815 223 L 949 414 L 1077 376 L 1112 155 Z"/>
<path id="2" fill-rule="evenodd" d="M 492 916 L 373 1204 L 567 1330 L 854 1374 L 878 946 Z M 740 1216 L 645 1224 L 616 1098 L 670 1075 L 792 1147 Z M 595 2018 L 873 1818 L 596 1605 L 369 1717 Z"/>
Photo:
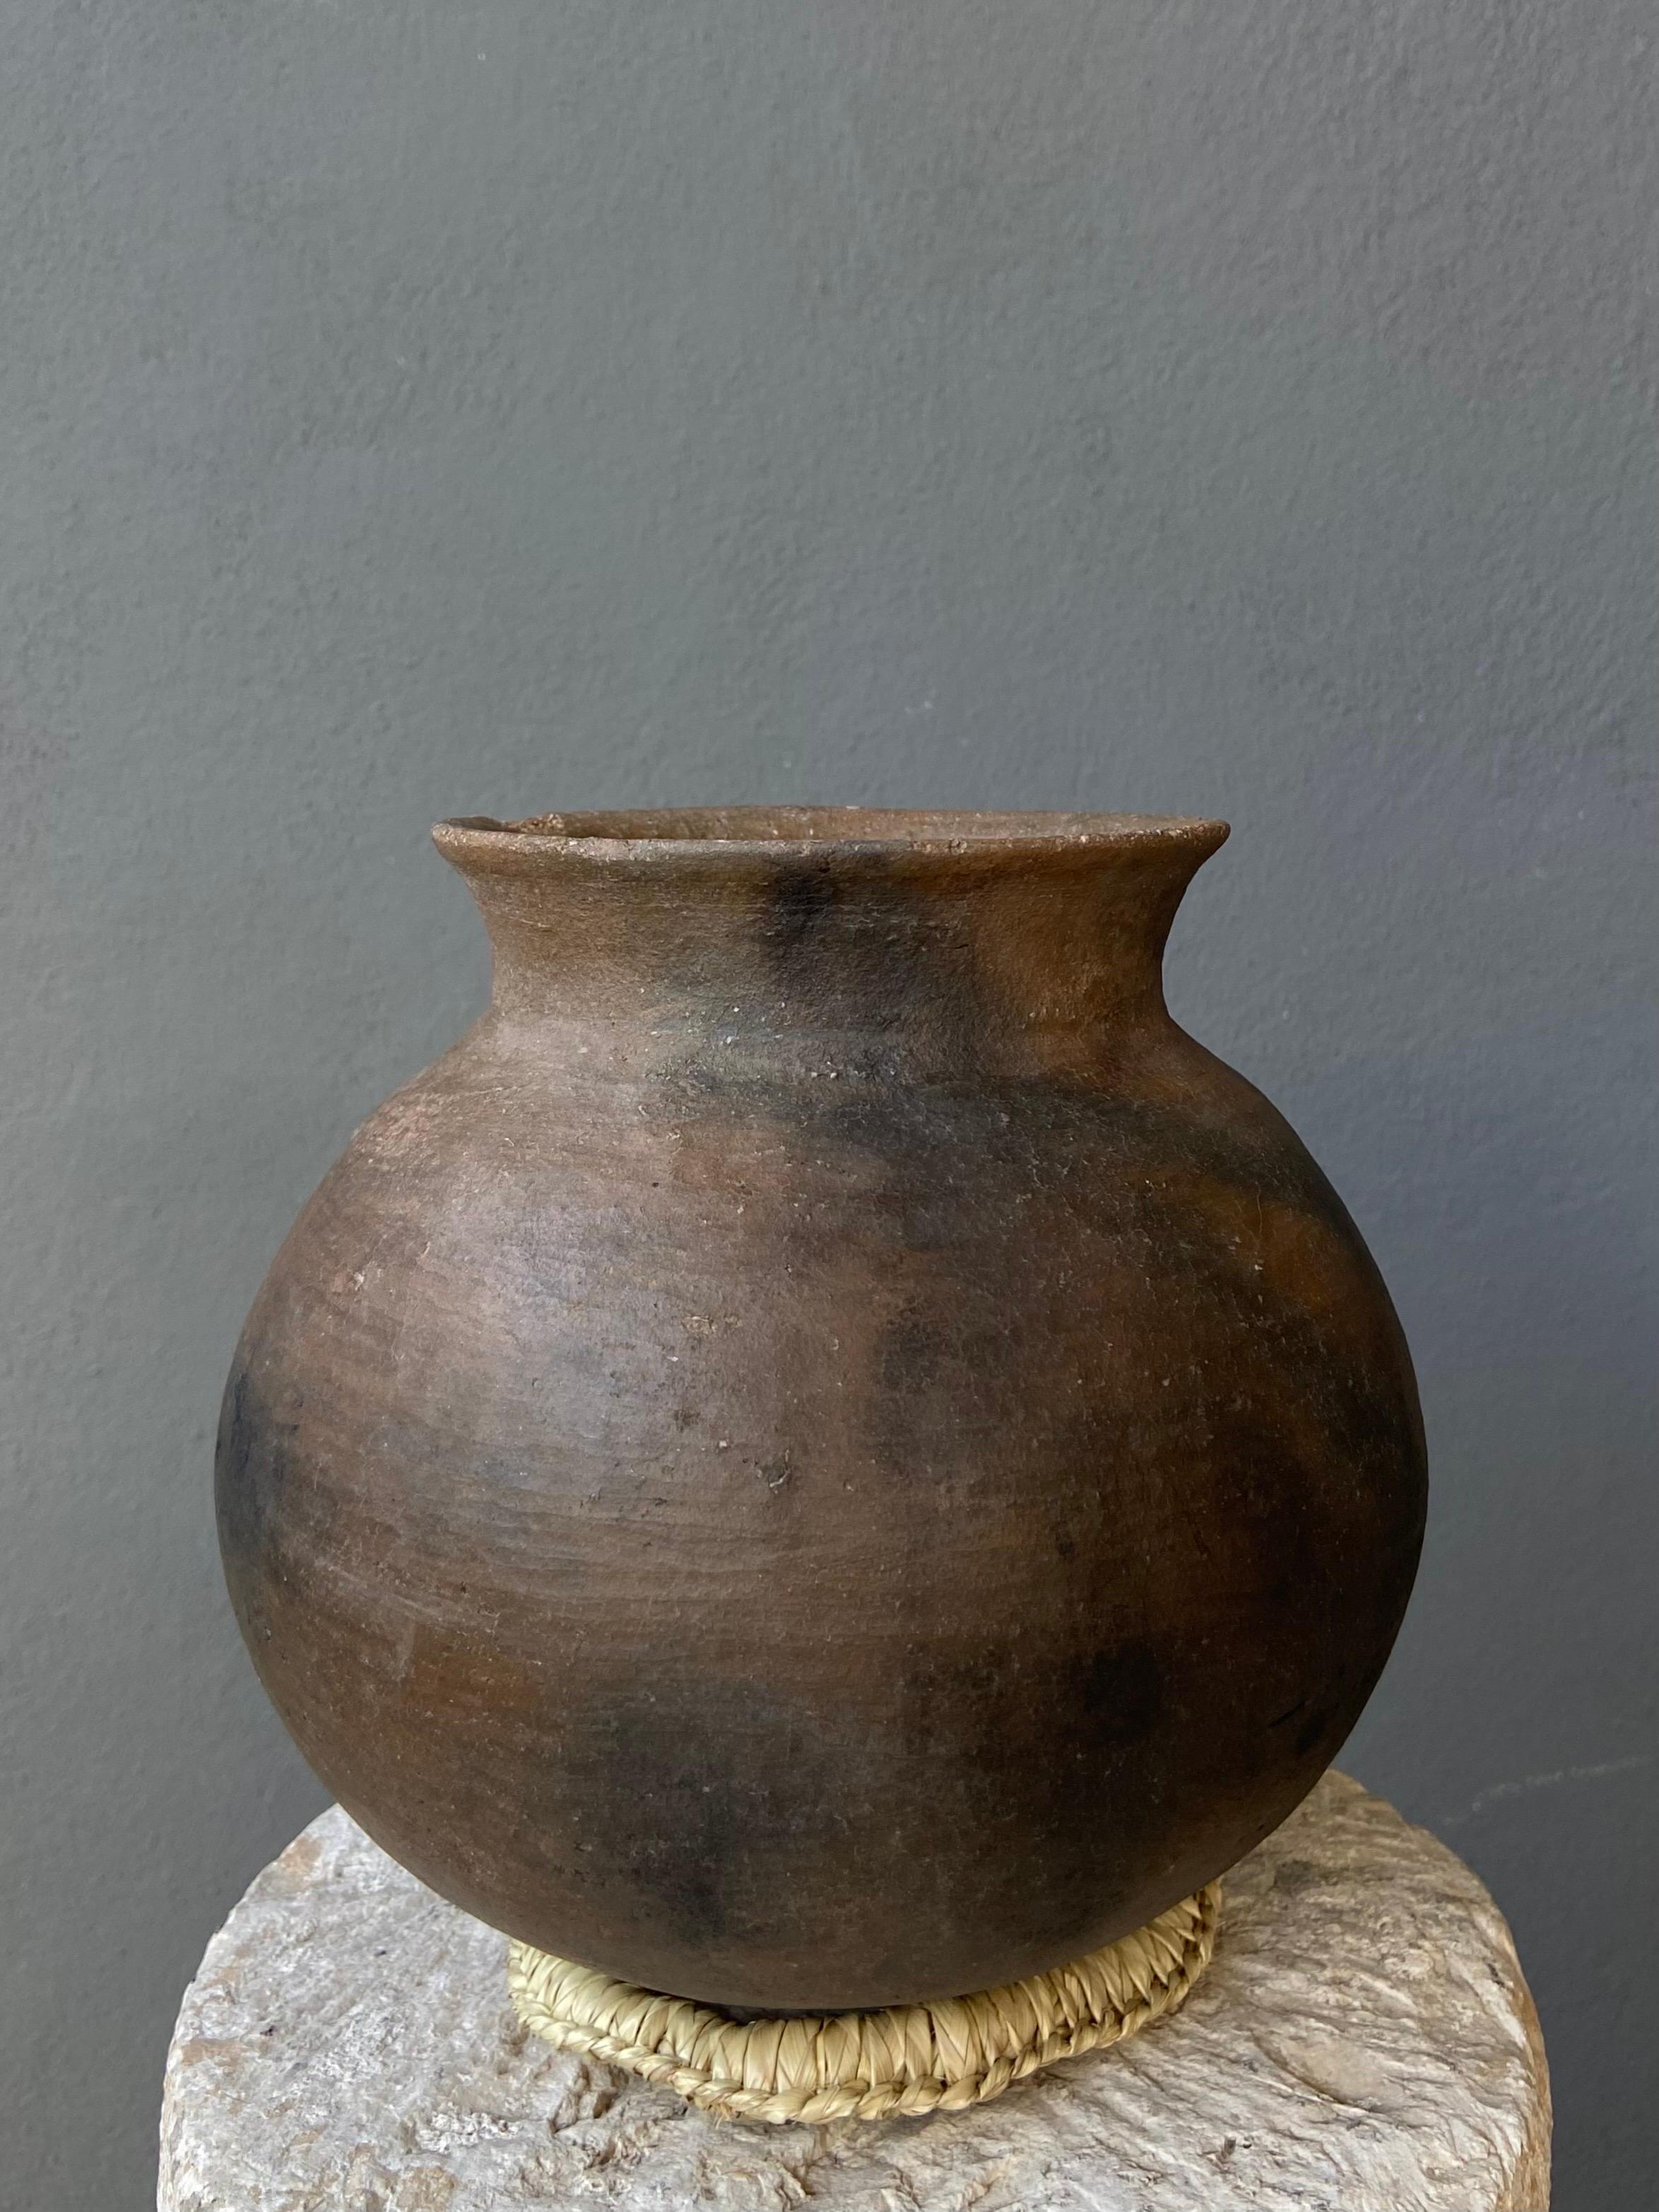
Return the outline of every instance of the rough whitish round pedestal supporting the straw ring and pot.
<path id="1" fill-rule="evenodd" d="M 1542 2212 L 1548 2077 L 1475 1876 L 1329 1774 L 1175 2020 L 929 2121 L 752 2128 L 529 2039 L 504 1944 L 334 1809 L 215 1936 L 161 2212 Z"/>

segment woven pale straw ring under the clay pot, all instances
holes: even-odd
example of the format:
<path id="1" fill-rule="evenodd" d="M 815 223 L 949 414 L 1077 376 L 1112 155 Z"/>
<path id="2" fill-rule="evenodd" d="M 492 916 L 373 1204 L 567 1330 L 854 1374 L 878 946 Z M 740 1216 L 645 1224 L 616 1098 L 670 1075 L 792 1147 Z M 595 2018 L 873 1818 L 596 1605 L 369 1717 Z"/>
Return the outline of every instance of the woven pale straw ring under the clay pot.
<path id="1" fill-rule="evenodd" d="M 507 1984 L 535 2035 L 626 2066 L 730 2119 L 885 2119 L 1000 2097 L 1055 2059 L 1172 2013 L 1210 1964 L 1221 1885 L 1071 1966 L 938 2004 L 794 2020 L 732 2020 L 515 1942 Z"/>

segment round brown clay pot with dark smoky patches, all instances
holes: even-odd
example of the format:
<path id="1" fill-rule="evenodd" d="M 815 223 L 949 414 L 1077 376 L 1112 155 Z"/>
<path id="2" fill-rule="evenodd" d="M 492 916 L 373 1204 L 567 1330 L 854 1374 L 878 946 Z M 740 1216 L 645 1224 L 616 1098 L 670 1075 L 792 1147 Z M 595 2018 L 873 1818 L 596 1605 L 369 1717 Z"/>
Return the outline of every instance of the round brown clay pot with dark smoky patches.
<path id="1" fill-rule="evenodd" d="M 237 1352 L 219 1524 L 396 1858 L 677 1995 L 1108 1942 L 1312 1787 L 1416 1571 L 1387 1292 L 1164 1009 L 1221 823 L 445 823 L 489 1013 Z"/>

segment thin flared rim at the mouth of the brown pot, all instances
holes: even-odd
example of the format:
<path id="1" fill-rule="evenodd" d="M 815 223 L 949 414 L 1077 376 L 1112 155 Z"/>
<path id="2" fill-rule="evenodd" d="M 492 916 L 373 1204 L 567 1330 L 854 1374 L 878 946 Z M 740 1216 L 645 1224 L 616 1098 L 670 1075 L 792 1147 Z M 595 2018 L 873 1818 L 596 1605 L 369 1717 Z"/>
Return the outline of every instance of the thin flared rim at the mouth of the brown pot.
<path id="1" fill-rule="evenodd" d="M 462 814 L 440 821 L 434 843 L 456 863 L 812 858 L 1004 858 L 1066 854 L 1079 847 L 1166 847 L 1212 854 L 1223 821 L 1183 814 L 1051 814 L 927 807 L 637 807 L 619 812 L 531 814 L 495 821 Z"/>

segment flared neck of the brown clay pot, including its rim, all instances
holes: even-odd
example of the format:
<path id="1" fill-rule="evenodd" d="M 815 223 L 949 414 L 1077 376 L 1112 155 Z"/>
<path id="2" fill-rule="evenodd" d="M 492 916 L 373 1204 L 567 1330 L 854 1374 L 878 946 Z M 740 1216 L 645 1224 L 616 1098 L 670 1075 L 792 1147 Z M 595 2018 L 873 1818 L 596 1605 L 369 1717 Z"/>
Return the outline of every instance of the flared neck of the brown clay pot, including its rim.
<path id="1" fill-rule="evenodd" d="M 699 834 L 699 816 L 440 823 L 489 927 L 495 1015 L 880 1037 L 929 1064 L 1053 1060 L 1066 1035 L 1161 1018 L 1175 909 L 1225 838 L 1146 816 L 759 818 L 810 834 Z M 630 834 L 591 827 L 617 821 Z"/>

